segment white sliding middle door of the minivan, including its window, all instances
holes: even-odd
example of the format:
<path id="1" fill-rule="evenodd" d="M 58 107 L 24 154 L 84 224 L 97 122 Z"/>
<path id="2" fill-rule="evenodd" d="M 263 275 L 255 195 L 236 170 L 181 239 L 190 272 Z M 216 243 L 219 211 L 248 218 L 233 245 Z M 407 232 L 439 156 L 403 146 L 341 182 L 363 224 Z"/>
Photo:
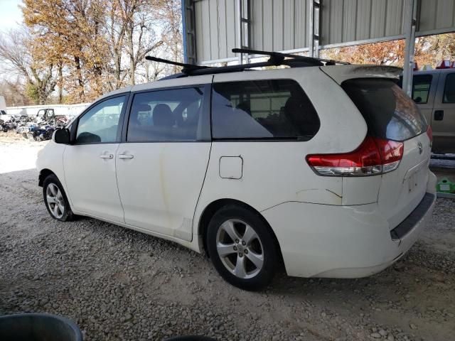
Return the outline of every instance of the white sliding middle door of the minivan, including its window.
<path id="1" fill-rule="evenodd" d="M 210 155 L 206 87 L 134 94 L 117 183 L 127 224 L 192 240 L 193 215 Z"/>

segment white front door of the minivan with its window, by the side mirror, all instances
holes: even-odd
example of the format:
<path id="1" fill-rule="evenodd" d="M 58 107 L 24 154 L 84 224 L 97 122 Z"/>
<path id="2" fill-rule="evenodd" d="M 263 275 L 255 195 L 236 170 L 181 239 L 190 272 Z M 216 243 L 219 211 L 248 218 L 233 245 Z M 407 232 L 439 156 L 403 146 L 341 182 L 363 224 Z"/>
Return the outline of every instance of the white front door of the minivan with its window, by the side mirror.
<path id="1" fill-rule="evenodd" d="M 127 95 L 90 107 L 75 122 L 75 143 L 63 153 L 68 195 L 76 211 L 124 222 L 115 175 Z M 123 109 L 123 110 L 122 110 Z"/>

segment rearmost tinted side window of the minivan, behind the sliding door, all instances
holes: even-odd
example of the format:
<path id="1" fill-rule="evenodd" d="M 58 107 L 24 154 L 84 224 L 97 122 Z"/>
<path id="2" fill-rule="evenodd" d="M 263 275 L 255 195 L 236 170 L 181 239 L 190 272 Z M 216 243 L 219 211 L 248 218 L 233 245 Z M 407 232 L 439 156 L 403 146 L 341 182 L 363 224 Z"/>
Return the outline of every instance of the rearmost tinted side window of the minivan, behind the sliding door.
<path id="1" fill-rule="evenodd" d="M 213 85 L 214 139 L 302 139 L 319 130 L 319 117 L 294 80 Z"/>

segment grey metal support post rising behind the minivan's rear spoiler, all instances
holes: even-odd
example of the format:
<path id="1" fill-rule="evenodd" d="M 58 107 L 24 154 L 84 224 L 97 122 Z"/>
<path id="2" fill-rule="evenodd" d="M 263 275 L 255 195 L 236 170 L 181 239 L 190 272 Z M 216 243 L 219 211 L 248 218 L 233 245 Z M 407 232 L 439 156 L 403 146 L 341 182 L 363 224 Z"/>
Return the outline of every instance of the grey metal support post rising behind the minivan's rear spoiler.
<path id="1" fill-rule="evenodd" d="M 412 73 L 414 70 L 414 44 L 417 24 L 417 0 L 406 0 L 405 13 L 405 65 L 403 70 L 403 90 L 412 96 Z"/>

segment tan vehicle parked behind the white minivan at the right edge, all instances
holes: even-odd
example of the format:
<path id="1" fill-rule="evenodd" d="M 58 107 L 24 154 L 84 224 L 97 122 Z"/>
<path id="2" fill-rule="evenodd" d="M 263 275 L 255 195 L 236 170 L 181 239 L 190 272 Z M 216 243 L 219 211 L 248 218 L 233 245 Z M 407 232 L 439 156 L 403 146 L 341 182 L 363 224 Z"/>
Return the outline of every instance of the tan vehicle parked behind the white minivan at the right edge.
<path id="1" fill-rule="evenodd" d="M 455 68 L 414 71 L 412 99 L 432 126 L 434 153 L 455 153 Z"/>

